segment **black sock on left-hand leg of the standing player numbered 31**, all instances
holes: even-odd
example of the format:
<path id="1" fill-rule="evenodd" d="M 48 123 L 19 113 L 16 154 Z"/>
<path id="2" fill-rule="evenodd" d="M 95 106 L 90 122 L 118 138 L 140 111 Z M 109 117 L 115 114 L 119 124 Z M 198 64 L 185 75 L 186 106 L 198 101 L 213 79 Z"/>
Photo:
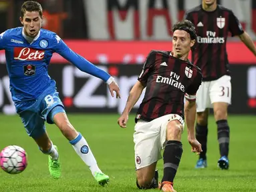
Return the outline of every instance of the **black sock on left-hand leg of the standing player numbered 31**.
<path id="1" fill-rule="evenodd" d="M 207 125 L 196 125 L 196 138 L 199 143 L 202 145 L 203 152 L 200 153 L 199 158 L 207 159 L 207 134 L 208 127 Z"/>

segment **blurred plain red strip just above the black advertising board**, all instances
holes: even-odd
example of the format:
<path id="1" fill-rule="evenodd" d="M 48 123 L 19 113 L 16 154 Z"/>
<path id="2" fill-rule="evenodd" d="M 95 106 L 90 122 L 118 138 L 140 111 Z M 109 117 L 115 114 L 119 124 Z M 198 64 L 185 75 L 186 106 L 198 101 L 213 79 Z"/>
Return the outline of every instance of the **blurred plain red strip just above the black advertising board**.
<path id="1" fill-rule="evenodd" d="M 76 53 L 82 55 L 92 63 L 144 63 L 146 56 L 152 49 L 171 50 L 172 41 L 81 41 L 64 40 Z M 256 41 L 255 41 L 256 45 Z M 5 52 L 0 51 L 0 63 L 5 63 Z M 256 63 L 256 57 L 241 41 L 227 42 L 229 63 Z M 51 63 L 66 63 L 60 55 L 54 53 Z"/>

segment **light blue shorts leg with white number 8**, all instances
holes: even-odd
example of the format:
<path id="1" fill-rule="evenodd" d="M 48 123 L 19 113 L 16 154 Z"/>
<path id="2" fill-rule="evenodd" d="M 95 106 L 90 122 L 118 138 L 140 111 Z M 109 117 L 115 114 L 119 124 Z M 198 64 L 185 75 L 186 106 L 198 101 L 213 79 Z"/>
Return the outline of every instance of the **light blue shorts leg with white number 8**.
<path id="1" fill-rule="evenodd" d="M 49 91 L 48 94 L 43 95 L 41 98 L 41 117 L 49 124 L 53 124 L 53 117 L 57 113 L 66 113 L 63 103 L 59 99 L 59 93 L 57 91 Z M 62 115 L 61 118 L 68 118 L 66 115 Z"/>

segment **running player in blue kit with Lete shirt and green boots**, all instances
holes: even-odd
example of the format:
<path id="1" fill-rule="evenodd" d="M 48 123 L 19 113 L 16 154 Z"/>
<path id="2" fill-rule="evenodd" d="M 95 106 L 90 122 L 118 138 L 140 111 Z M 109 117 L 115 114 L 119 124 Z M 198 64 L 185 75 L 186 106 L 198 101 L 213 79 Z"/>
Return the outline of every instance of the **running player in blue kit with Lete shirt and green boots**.
<path id="1" fill-rule="evenodd" d="M 49 155 L 49 173 L 58 179 L 61 176 L 59 154 L 45 131 L 45 121 L 55 123 L 90 167 L 96 181 L 100 185 L 108 183 L 109 177 L 98 167 L 86 139 L 68 120 L 55 81 L 48 75 L 49 61 L 53 53 L 59 53 L 81 71 L 105 81 L 112 97 L 114 91 L 116 97 L 120 97 L 118 85 L 108 73 L 74 53 L 55 33 L 41 29 L 42 7 L 36 1 L 23 3 L 20 21 L 23 27 L 1 33 L 0 49 L 5 49 L 12 99 L 28 135 L 43 153 Z"/>

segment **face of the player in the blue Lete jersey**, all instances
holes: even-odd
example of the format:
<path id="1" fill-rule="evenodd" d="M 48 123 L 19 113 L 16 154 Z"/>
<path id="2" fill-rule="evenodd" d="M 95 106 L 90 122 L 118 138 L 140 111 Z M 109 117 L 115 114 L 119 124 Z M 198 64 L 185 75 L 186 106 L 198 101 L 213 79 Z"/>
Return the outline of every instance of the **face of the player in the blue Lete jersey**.
<path id="1" fill-rule="evenodd" d="M 37 11 L 26 11 L 24 17 L 19 17 L 23 27 L 25 35 L 33 38 L 37 36 L 43 22 L 43 17 L 40 16 Z"/>

